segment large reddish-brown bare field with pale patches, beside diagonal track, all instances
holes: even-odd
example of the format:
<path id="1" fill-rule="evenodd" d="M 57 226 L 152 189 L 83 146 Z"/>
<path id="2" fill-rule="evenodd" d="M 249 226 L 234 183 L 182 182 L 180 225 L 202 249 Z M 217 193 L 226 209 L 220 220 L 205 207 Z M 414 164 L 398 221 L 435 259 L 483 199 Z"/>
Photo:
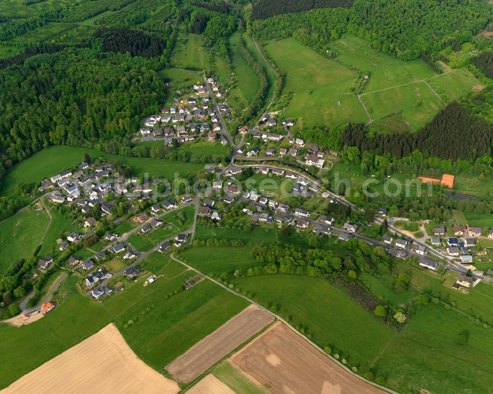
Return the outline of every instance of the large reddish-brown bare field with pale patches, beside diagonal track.
<path id="1" fill-rule="evenodd" d="M 352 376 L 282 323 L 231 360 L 273 394 L 384 393 Z"/>

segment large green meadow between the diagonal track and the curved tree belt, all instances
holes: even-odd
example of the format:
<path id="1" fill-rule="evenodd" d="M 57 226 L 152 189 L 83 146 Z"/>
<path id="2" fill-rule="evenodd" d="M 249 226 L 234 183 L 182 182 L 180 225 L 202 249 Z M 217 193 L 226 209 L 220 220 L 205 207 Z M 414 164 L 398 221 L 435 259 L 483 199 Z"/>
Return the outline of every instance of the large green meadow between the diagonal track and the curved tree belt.
<path id="1" fill-rule="evenodd" d="M 331 346 L 348 365 L 369 368 L 394 332 L 364 311 L 345 293 L 321 278 L 287 274 L 261 275 L 232 281 L 251 292 L 262 305 L 276 305 L 278 314 L 300 325 L 320 345 Z M 364 329 L 362 329 L 364 327 Z"/>

